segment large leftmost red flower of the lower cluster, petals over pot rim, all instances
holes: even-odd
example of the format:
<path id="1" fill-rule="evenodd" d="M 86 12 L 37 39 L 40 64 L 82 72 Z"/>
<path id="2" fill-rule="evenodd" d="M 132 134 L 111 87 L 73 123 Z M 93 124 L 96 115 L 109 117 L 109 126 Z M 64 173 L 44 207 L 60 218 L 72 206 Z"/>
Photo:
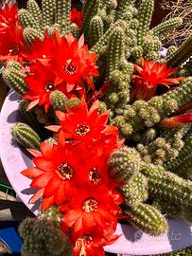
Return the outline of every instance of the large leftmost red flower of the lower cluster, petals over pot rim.
<path id="1" fill-rule="evenodd" d="M 60 205 L 76 193 L 79 155 L 73 146 L 66 144 L 62 148 L 43 142 L 41 152 L 33 155 L 35 167 L 22 172 L 33 179 L 30 186 L 39 189 L 31 198 L 31 204 L 44 196 L 42 208 L 45 210 L 54 203 Z"/>

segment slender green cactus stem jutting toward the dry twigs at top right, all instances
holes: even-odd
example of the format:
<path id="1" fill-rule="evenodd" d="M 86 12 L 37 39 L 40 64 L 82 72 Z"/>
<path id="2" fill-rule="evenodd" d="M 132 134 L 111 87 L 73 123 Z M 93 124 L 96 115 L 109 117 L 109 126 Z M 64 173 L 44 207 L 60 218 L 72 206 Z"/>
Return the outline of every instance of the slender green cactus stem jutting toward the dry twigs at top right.
<path id="1" fill-rule="evenodd" d="M 156 27 L 153 27 L 152 32 L 153 32 L 153 35 L 160 36 L 160 35 L 166 33 L 166 31 L 169 31 L 171 29 L 179 27 L 182 24 L 183 24 L 183 19 L 182 18 L 178 18 L 178 17 L 171 18 L 169 20 L 166 20 L 163 23 L 160 23 Z"/>

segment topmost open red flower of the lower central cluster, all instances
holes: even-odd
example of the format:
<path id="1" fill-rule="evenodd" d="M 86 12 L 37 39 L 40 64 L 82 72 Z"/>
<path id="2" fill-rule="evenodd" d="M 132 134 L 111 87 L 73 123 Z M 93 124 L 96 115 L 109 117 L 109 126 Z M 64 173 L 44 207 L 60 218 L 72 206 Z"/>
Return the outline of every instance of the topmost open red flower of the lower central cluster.
<path id="1" fill-rule="evenodd" d="M 107 125 L 108 112 L 98 113 L 98 101 L 91 109 L 85 101 L 81 101 L 79 107 L 68 110 L 67 113 L 56 112 L 61 126 L 47 127 L 53 131 L 60 131 L 60 141 L 72 139 L 73 143 L 80 144 L 79 147 L 87 157 L 87 154 L 96 156 L 109 155 L 114 149 L 118 148 L 118 130 L 113 125 Z"/>

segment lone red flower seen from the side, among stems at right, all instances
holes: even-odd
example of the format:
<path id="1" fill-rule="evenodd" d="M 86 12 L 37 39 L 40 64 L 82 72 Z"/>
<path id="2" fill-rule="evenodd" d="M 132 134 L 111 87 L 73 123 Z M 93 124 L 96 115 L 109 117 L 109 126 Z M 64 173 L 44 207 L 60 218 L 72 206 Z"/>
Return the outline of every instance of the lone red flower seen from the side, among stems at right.
<path id="1" fill-rule="evenodd" d="M 167 78 L 174 74 L 178 68 L 168 68 L 166 64 L 152 63 L 151 61 L 142 61 L 142 67 L 134 64 L 134 68 L 140 74 L 135 77 L 135 85 L 131 92 L 132 101 L 150 100 L 156 92 L 157 85 L 179 84 L 181 78 Z"/>

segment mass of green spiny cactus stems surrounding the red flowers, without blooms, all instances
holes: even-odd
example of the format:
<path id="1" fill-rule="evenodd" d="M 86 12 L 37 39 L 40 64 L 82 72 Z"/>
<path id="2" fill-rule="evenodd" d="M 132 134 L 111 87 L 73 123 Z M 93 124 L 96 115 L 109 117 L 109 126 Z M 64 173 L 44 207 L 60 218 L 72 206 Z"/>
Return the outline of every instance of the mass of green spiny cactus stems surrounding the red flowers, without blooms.
<path id="1" fill-rule="evenodd" d="M 99 90 L 105 82 L 111 83 L 100 99 L 100 112 L 109 110 L 111 123 L 118 127 L 120 136 L 126 141 L 126 146 L 113 152 L 109 159 L 110 174 L 124 184 L 121 192 L 125 197 L 123 209 L 131 216 L 128 222 L 151 235 L 159 235 L 167 230 L 166 216 L 192 222 L 192 127 L 190 123 L 171 129 L 161 125 L 162 119 L 176 115 L 192 102 L 189 59 L 192 37 L 179 48 L 170 46 L 167 60 L 162 59 L 159 53 L 161 35 L 180 26 L 182 20 L 173 18 L 151 28 L 153 9 L 154 0 L 142 0 L 139 9 L 131 0 L 87 0 L 83 7 L 83 25 L 79 28 L 70 22 L 70 0 L 43 0 L 42 9 L 35 0 L 28 0 L 27 9 L 19 10 L 19 19 L 25 27 L 28 46 L 32 46 L 35 38 L 43 40 L 45 31 L 49 36 L 55 31 L 61 36 L 71 32 L 75 37 L 84 33 L 90 51 L 97 54 L 99 77 L 94 81 L 96 89 Z M 133 64 L 141 64 L 142 59 L 181 66 L 178 73 L 187 76 L 173 90 L 149 101 L 131 101 Z M 189 61 L 184 64 L 186 60 Z M 22 67 L 22 64 L 9 62 L 3 72 L 5 82 L 21 96 L 27 91 L 26 73 Z M 29 102 L 20 102 L 20 111 L 27 124 L 15 124 L 12 135 L 25 147 L 38 149 L 42 141 L 41 134 L 38 135 L 41 125 L 58 121 L 54 110 L 65 112 L 66 103 L 73 108 L 80 101 L 78 98 L 69 100 L 60 91 L 53 91 L 50 102 L 48 113 L 40 106 L 28 111 Z M 54 140 L 49 141 L 53 143 Z M 27 255 L 49 255 L 51 239 L 58 245 L 62 238 L 60 234 L 58 238 L 47 237 L 46 226 L 41 220 L 38 224 L 34 222 L 28 220 L 26 228 L 21 228 L 23 237 L 26 232 L 30 233 L 24 250 L 31 251 Z M 38 232 L 46 237 L 44 245 L 37 240 Z M 33 240 L 39 245 L 35 250 L 30 247 Z M 47 254 L 40 254 L 43 246 L 47 246 L 44 248 L 49 251 Z M 60 245 L 58 248 L 57 255 L 60 255 Z"/>

